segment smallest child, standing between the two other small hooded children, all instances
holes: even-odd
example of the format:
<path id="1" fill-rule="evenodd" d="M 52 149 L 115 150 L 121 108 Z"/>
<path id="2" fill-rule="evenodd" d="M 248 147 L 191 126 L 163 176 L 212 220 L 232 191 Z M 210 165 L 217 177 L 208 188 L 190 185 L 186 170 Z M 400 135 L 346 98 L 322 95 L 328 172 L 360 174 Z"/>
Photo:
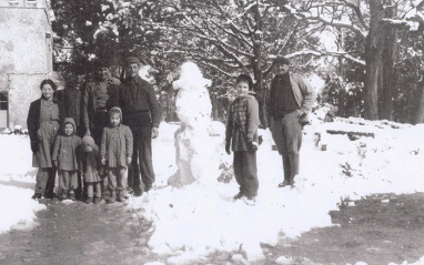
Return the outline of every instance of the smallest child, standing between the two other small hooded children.
<path id="1" fill-rule="evenodd" d="M 101 179 L 98 172 L 99 146 L 94 143 L 94 139 L 89 135 L 82 139 L 81 146 L 80 170 L 87 187 L 84 202 L 99 204 L 102 201 Z"/>

